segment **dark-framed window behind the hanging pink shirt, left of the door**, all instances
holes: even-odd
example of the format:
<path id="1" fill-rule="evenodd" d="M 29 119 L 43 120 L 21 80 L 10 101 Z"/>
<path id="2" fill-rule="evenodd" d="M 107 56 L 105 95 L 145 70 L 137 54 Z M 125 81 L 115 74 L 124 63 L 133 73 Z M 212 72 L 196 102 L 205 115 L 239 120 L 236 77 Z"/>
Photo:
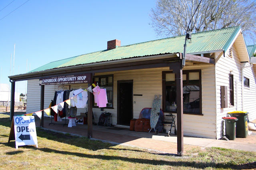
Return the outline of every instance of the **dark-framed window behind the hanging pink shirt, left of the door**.
<path id="1" fill-rule="evenodd" d="M 114 77 L 113 75 L 100 75 L 100 76 L 94 76 L 93 78 L 93 82 L 95 85 L 97 85 L 98 83 L 98 85 L 101 88 L 106 89 L 107 97 L 108 97 L 108 104 L 106 108 L 110 108 L 110 109 L 113 109 L 113 77 Z M 93 107 L 98 107 L 97 103 L 94 103 Z"/>

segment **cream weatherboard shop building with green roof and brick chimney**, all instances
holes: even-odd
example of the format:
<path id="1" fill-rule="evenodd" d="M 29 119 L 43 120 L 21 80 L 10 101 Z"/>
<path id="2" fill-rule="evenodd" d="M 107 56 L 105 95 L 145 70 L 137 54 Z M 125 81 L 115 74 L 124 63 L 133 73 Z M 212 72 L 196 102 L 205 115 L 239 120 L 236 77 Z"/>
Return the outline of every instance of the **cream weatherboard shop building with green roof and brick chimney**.
<path id="1" fill-rule="evenodd" d="M 164 115 L 177 116 L 178 131 L 182 128 L 184 135 L 203 138 L 225 134 L 222 117 L 228 112 L 247 111 L 250 121 L 256 119 L 256 60 L 249 57 L 241 28 L 192 34 L 182 68 L 184 39 L 177 36 L 126 46 L 112 40 L 107 50 L 10 76 L 12 90 L 16 81 L 28 80 L 27 113 L 34 113 L 48 108 L 61 88 L 86 89 L 98 83 L 108 97 L 103 110 L 112 114 L 112 125 L 120 127 L 129 127 L 143 108 L 152 107 L 154 95 L 162 95 L 161 109 Z M 89 92 L 87 108 L 77 109 L 77 114 L 86 109 L 89 136 L 90 112 L 96 123 L 103 112 Z"/>

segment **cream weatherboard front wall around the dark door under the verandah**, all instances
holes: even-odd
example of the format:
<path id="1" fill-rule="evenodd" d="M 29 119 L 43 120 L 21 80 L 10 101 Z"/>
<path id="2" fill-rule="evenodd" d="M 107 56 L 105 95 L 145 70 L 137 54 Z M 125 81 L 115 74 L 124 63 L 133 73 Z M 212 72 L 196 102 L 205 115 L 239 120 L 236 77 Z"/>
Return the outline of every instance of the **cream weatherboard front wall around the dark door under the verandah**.
<path id="1" fill-rule="evenodd" d="M 189 66 L 188 69 L 202 69 L 202 113 L 203 115 L 184 114 L 184 135 L 197 136 L 204 138 L 216 138 L 216 97 L 215 97 L 215 78 L 214 65 Z M 138 119 L 140 111 L 146 107 L 152 107 L 154 95 L 162 95 L 162 71 L 169 68 L 139 69 L 131 71 L 116 71 L 98 73 L 96 75 L 114 75 L 114 109 L 104 109 L 112 113 L 113 125 L 117 121 L 117 81 L 133 80 L 133 93 L 142 96 L 133 97 L 133 118 Z M 161 106 L 162 109 L 162 106 Z M 98 108 L 93 109 L 94 117 L 98 117 L 102 111 Z M 167 115 L 168 113 L 164 113 Z M 174 114 L 176 115 L 176 113 Z M 176 120 L 177 121 L 177 120 Z M 164 127 L 167 132 L 170 126 Z M 172 128 L 174 133 L 174 128 Z"/>

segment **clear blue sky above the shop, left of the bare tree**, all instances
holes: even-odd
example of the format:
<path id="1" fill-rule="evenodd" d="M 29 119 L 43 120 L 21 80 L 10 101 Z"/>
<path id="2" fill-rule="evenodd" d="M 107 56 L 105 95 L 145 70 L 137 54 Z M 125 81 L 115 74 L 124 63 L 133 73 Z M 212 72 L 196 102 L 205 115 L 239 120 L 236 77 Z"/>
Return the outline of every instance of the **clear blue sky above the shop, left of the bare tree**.
<path id="1" fill-rule="evenodd" d="M 12 1 L 0 1 L 0 10 Z M 0 83 L 9 84 L 11 53 L 13 75 L 14 43 L 17 75 L 26 73 L 27 59 L 30 71 L 51 61 L 104 50 L 114 39 L 121 46 L 160 39 L 149 25 L 155 0 L 26 1 L 14 0 L 0 11 Z M 25 92 L 24 81 L 16 83 L 16 91 Z"/>

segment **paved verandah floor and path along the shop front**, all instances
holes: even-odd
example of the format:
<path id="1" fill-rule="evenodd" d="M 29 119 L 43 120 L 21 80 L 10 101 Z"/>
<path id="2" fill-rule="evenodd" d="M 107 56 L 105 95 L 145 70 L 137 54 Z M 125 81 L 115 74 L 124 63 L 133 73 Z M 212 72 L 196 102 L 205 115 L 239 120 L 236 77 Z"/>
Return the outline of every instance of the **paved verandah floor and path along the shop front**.
<path id="1" fill-rule="evenodd" d="M 51 119 L 44 118 L 44 128 L 87 136 L 87 125 L 76 124 L 76 127 L 68 127 L 67 125 L 62 125 L 65 123 L 65 121 L 59 123 L 54 122 L 52 119 L 52 122 L 56 124 L 49 125 L 49 123 L 51 123 Z M 68 124 L 68 120 L 66 123 Z M 36 126 L 40 126 L 39 119 L 37 117 Z M 177 154 L 177 136 L 166 136 L 164 133 L 158 133 L 158 135 L 156 135 L 154 132 L 134 132 L 130 131 L 129 129 L 112 130 L 109 128 L 110 127 L 93 125 L 93 139 L 104 140 L 115 144 L 138 146 L 158 150 L 163 153 Z M 255 135 L 256 139 L 256 132 L 253 132 L 252 135 Z M 184 136 L 183 140 L 184 153 L 193 147 L 220 147 L 256 152 L 256 144 L 236 142 L 235 140 L 226 141 L 190 136 Z"/>

